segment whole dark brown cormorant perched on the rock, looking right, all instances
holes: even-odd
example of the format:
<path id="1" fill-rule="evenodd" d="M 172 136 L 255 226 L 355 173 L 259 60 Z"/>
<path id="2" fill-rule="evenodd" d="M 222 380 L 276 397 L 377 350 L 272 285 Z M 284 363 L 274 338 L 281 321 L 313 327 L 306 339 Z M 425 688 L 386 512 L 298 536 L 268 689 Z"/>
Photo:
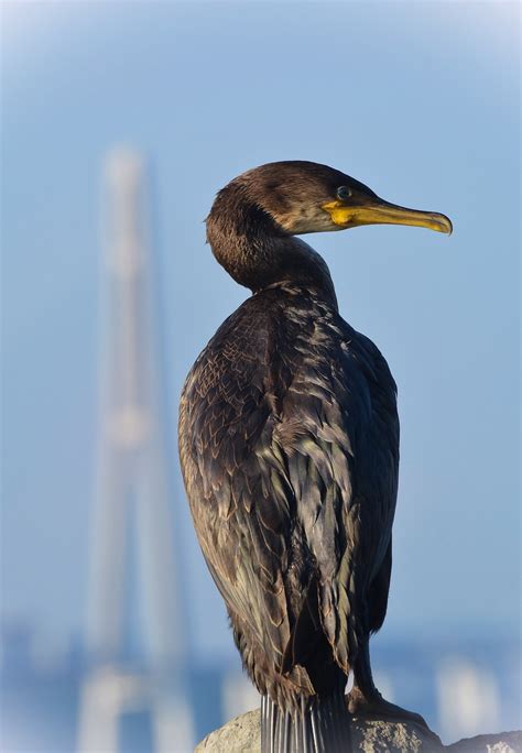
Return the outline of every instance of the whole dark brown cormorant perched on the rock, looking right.
<path id="1" fill-rule="evenodd" d="M 244 172 L 206 219 L 215 259 L 251 295 L 186 378 L 180 459 L 203 555 L 261 694 L 263 753 L 349 751 L 354 716 L 425 725 L 382 698 L 369 654 L 390 588 L 396 385 L 300 238 L 376 223 L 452 232 L 445 215 L 389 204 L 306 161 Z"/>

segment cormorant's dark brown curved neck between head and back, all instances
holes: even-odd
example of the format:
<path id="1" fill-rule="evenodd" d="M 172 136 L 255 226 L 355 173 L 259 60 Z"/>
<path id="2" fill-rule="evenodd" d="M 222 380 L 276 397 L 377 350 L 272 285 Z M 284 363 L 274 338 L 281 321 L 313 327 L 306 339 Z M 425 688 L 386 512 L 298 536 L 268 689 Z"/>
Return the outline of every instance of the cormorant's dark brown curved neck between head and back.
<path id="1" fill-rule="evenodd" d="M 286 233 L 260 207 L 241 201 L 221 207 L 218 197 L 207 218 L 207 240 L 221 266 L 253 293 L 292 282 L 313 290 L 337 308 L 324 259 Z"/>

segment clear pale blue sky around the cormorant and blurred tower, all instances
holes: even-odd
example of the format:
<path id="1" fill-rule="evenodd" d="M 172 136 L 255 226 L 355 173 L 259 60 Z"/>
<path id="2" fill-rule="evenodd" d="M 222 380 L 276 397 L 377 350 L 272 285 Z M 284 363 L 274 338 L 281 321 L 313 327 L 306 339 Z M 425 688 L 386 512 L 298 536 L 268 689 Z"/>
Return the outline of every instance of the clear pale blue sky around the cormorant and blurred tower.
<path id="1" fill-rule="evenodd" d="M 384 632 L 514 634 L 518 3 L 117 1 L 2 13 L 4 613 L 57 644 L 84 624 L 100 171 L 123 142 L 153 172 L 171 426 L 193 360 L 248 295 L 214 261 L 203 225 L 236 174 L 313 160 L 452 218 L 452 238 L 374 227 L 307 240 L 400 390 Z M 228 652 L 180 484 L 174 515 L 195 647 Z"/>

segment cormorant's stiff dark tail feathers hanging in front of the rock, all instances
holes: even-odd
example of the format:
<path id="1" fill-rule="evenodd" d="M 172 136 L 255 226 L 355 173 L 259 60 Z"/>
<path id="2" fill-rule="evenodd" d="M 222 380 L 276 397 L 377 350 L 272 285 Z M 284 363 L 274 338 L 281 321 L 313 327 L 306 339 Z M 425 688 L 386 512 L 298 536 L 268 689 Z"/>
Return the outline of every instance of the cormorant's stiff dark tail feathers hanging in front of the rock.
<path id="1" fill-rule="evenodd" d="M 303 698 L 293 712 L 262 696 L 261 753 L 351 753 L 350 724 L 344 690 Z"/>

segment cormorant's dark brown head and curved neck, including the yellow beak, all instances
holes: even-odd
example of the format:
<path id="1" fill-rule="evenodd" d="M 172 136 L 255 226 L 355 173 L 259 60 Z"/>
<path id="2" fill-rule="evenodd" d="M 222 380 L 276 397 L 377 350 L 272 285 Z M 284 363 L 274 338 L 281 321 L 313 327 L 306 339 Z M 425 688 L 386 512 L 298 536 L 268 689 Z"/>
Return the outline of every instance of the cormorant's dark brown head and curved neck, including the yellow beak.
<path id="1" fill-rule="evenodd" d="M 383 223 L 452 232 L 444 215 L 389 204 L 338 170 L 314 162 L 272 162 L 239 175 L 218 193 L 207 217 L 207 239 L 217 261 L 254 292 L 292 280 L 334 297 L 324 260 L 292 236 Z"/>

